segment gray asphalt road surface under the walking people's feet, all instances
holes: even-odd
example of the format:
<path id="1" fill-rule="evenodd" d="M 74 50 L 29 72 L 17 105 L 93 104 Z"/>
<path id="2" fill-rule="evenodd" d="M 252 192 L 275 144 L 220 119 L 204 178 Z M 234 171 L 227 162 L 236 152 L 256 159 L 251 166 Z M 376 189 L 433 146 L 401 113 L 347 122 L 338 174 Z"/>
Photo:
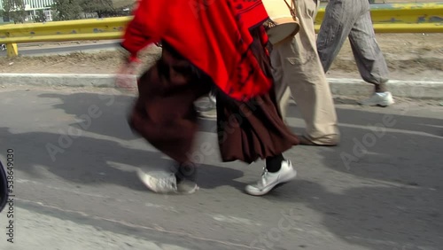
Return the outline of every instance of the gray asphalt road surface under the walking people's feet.
<path id="1" fill-rule="evenodd" d="M 243 192 L 263 162 L 220 163 L 215 123 L 205 120 L 201 189 L 167 196 L 136 178 L 136 168 L 172 161 L 128 128 L 133 99 L 0 90 L 0 159 L 14 150 L 16 195 L 6 207 L 13 235 L 0 214 L 0 249 L 442 249 L 443 106 L 337 98 L 341 145 L 292 148 L 297 180 L 265 197 Z M 302 131 L 296 105 L 289 114 Z"/>

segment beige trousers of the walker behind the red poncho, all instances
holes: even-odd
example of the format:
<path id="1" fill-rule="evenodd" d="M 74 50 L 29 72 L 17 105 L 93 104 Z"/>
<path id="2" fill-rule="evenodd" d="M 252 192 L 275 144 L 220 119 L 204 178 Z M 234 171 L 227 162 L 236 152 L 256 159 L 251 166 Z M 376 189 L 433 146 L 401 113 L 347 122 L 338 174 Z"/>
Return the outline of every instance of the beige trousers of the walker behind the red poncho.
<path id="1" fill-rule="evenodd" d="M 285 118 L 292 94 L 306 122 L 304 136 L 315 144 L 334 145 L 339 140 L 337 114 L 315 44 L 318 5 L 315 0 L 294 0 L 294 4 L 299 34 L 274 46 L 270 54 L 279 108 Z"/>

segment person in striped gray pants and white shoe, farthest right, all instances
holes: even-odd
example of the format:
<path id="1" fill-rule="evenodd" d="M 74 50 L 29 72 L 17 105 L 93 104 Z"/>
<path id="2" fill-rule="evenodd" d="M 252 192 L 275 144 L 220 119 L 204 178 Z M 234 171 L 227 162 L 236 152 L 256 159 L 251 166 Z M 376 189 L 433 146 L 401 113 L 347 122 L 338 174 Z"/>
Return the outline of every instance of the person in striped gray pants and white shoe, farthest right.
<path id="1" fill-rule="evenodd" d="M 318 33 L 317 49 L 324 72 L 328 72 L 346 38 L 349 38 L 354 59 L 365 82 L 374 84 L 374 92 L 361 105 L 388 106 L 394 103 L 387 90 L 389 70 L 378 47 L 368 0 L 330 0 Z"/>

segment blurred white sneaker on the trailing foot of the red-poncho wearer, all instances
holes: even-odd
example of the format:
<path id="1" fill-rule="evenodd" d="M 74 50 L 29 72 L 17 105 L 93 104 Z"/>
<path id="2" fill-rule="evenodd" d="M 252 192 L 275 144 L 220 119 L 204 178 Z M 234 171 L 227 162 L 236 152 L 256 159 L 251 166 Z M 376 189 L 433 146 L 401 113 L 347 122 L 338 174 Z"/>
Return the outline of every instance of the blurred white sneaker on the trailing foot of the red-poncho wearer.
<path id="1" fill-rule="evenodd" d="M 174 173 L 165 176 L 156 175 L 154 173 L 147 174 L 141 169 L 137 170 L 137 176 L 146 185 L 148 189 L 157 193 L 194 193 L 198 191 L 198 185 L 192 181 L 184 179 L 177 184 L 177 178 Z"/>

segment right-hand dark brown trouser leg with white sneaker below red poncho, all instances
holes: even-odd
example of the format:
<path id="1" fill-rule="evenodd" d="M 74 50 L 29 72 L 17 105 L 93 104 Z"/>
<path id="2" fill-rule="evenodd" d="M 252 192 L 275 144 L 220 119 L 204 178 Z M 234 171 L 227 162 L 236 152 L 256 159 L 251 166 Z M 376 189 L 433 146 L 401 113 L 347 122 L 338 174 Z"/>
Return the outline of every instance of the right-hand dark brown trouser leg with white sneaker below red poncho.
<path id="1" fill-rule="evenodd" d="M 251 195 L 264 195 L 277 184 L 291 181 L 297 172 L 283 152 L 298 145 L 298 138 L 286 127 L 276 107 L 273 92 L 241 103 L 217 96 L 217 124 L 221 160 L 252 163 L 266 160 L 257 184 L 247 185 Z"/>

